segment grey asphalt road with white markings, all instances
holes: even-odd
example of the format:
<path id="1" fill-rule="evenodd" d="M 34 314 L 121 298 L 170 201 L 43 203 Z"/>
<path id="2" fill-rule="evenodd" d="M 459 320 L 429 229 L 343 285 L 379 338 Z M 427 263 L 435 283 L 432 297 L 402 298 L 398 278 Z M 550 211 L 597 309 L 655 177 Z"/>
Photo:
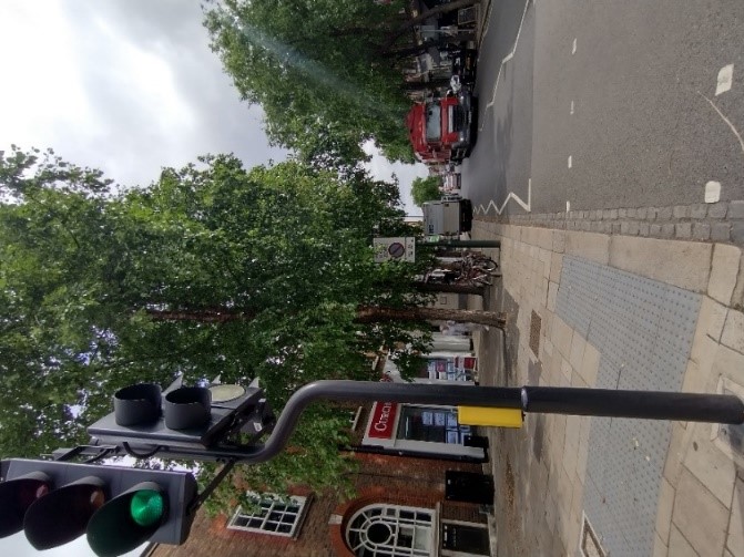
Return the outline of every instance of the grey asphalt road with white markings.
<path id="1" fill-rule="evenodd" d="M 744 199 L 742 0 L 493 1 L 476 92 L 478 213 Z"/>

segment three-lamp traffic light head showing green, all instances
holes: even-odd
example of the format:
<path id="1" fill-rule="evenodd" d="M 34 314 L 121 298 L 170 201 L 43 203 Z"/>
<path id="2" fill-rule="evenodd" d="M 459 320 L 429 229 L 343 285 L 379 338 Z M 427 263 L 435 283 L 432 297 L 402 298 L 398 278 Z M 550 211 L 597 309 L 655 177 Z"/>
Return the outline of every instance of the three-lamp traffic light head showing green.
<path id="1" fill-rule="evenodd" d="M 0 537 L 24 530 L 35 549 L 88 534 L 99 556 L 145 541 L 183 544 L 194 518 L 187 472 L 13 458 L 3 463 Z"/>

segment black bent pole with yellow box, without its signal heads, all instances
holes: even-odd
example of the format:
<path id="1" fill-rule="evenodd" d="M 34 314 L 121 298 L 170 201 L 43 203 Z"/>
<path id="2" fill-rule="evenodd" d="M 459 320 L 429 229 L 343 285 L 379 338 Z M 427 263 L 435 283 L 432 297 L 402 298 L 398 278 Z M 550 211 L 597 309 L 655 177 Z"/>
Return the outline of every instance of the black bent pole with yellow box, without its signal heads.
<path id="1" fill-rule="evenodd" d="M 264 444 L 227 445 L 208 448 L 162 444 L 123 443 L 128 454 L 152 451 L 159 457 L 201 461 L 235 461 L 258 464 L 282 452 L 299 415 L 312 402 L 365 401 L 458 406 L 460 419 L 471 425 L 521 425 L 522 413 L 553 413 L 648 420 L 680 420 L 710 423 L 744 423 L 744 402 L 734 395 L 655 391 L 616 391 L 550 386 L 472 386 L 453 384 L 385 383 L 366 381 L 316 381 L 296 391 L 284 406 Z M 482 411 L 486 421 L 467 422 L 462 416 Z M 493 414 L 488 414 L 491 411 Z M 495 423 L 489 415 L 511 413 L 519 423 Z"/>

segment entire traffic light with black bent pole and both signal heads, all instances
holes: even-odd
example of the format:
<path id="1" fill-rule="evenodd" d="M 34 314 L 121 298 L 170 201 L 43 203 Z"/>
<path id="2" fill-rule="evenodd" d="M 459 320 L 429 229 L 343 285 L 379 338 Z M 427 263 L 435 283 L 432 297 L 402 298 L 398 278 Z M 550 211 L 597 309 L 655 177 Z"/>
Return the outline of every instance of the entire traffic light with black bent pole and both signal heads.
<path id="1" fill-rule="evenodd" d="M 150 383 L 118 391 L 113 414 L 89 427 L 94 445 L 58 450 L 53 461 L 0 461 L 0 537 L 23 530 L 34 548 L 48 549 L 86 534 L 100 557 L 144 541 L 183 544 L 195 510 L 230 471 L 279 454 L 302 412 L 319 400 L 451 405 L 461 424 L 505 427 L 521 426 L 524 412 L 744 423 L 744 402 L 734 395 L 364 381 L 309 383 L 275 422 L 257 384 L 225 385 L 216 401 L 206 388 L 172 386 L 164 401 L 160 386 Z M 231 398 L 236 390 L 230 388 L 242 394 Z M 238 432 L 248 440 L 236 441 Z M 216 461 L 223 467 L 198 493 L 190 472 L 91 464 L 122 453 Z M 65 462 L 83 456 L 89 458 L 82 464 Z"/>

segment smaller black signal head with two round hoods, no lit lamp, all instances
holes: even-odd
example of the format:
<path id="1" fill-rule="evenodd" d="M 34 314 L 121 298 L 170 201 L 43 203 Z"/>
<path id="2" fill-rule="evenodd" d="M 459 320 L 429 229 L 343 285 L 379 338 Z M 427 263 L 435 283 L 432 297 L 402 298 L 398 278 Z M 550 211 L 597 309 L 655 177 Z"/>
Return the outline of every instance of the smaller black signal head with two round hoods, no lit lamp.
<path id="1" fill-rule="evenodd" d="M 254 385 L 180 386 L 176 381 L 164 392 L 153 383 L 130 385 L 114 394 L 114 411 L 89 426 L 88 433 L 100 443 L 125 443 L 140 452 L 203 451 L 216 447 L 256 415 L 264 416 L 263 396 Z M 203 456 L 208 458 L 208 452 Z"/>

